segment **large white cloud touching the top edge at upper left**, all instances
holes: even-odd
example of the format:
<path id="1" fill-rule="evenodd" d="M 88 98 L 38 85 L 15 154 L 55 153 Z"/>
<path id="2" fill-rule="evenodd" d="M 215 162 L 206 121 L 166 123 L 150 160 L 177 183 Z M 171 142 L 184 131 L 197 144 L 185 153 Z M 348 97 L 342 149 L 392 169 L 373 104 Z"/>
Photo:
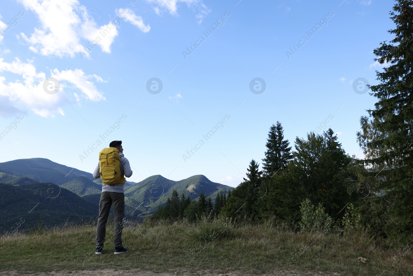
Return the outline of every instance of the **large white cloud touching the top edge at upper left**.
<path id="1" fill-rule="evenodd" d="M 78 0 L 18 0 L 28 10 L 37 14 L 40 27 L 35 27 L 33 34 L 20 36 L 31 44 L 29 47 L 34 53 L 41 55 L 56 55 L 58 57 L 74 57 L 79 52 L 85 52 L 81 45 L 82 38 L 93 42 L 100 36 L 101 41 L 96 43 L 105 53 L 110 53 L 110 46 L 117 36 L 116 26 L 109 22 L 98 26 L 88 14 L 88 10 Z M 100 31 L 108 34 L 102 37 Z M 87 45 L 88 43 L 84 43 Z"/>

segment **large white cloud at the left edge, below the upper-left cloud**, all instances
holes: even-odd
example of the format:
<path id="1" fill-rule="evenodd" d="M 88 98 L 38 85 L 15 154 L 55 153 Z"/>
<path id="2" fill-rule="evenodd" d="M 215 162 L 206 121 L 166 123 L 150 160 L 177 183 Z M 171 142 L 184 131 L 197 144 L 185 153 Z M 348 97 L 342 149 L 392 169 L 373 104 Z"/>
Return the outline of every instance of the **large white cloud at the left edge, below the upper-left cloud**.
<path id="1" fill-rule="evenodd" d="M 55 117 L 56 114 L 64 115 L 62 106 L 67 105 L 66 98 L 71 101 L 72 90 L 76 89 L 80 90 L 81 96 L 88 100 L 105 100 L 102 93 L 97 91 L 95 84 L 88 80 L 101 78 L 96 75 L 86 75 L 81 69 L 61 72 L 57 69 L 53 70 L 50 77 L 56 78 L 60 84 L 59 91 L 53 95 L 47 94 L 43 90 L 46 74 L 36 72 L 33 65 L 21 62 L 19 58 L 11 63 L 0 58 L 0 72 L 11 72 L 21 76 L 22 79 L 22 81 L 16 79 L 14 82 L 6 82 L 6 78 L 0 76 L 0 97 L 8 99 L 7 106 L 11 109 L 13 109 L 12 106 L 30 108 L 34 113 L 43 117 Z M 12 112 L 15 111 L 12 110 Z"/>

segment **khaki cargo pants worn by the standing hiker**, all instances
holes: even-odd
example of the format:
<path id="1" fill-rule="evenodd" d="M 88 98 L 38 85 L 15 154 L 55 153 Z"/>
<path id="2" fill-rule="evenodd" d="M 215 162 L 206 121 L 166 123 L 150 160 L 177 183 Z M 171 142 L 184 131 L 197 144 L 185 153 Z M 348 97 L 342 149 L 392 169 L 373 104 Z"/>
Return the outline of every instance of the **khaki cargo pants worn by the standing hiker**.
<path id="1" fill-rule="evenodd" d="M 103 248 L 106 235 L 106 223 L 110 206 L 113 207 L 115 247 L 122 247 L 123 212 L 125 211 L 125 196 L 118 192 L 102 192 L 99 202 L 99 216 L 96 227 L 96 248 Z"/>

